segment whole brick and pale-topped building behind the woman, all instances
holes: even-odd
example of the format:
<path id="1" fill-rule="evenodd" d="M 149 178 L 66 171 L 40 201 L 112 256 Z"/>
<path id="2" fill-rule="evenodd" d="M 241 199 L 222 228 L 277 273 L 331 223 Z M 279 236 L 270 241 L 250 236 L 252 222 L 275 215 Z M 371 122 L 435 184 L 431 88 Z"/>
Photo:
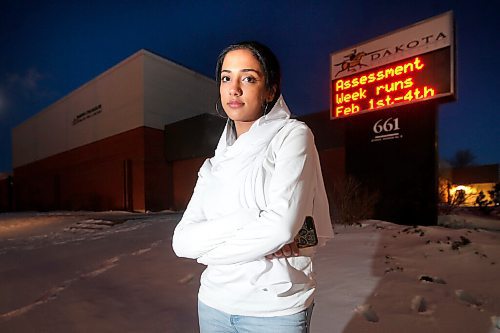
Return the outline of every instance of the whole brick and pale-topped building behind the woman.
<path id="1" fill-rule="evenodd" d="M 6 210 L 182 210 L 225 120 L 215 81 L 140 50 L 13 129 Z M 313 130 L 327 188 L 344 175 L 340 122 Z M 334 128 L 337 126 L 337 128 Z"/>

